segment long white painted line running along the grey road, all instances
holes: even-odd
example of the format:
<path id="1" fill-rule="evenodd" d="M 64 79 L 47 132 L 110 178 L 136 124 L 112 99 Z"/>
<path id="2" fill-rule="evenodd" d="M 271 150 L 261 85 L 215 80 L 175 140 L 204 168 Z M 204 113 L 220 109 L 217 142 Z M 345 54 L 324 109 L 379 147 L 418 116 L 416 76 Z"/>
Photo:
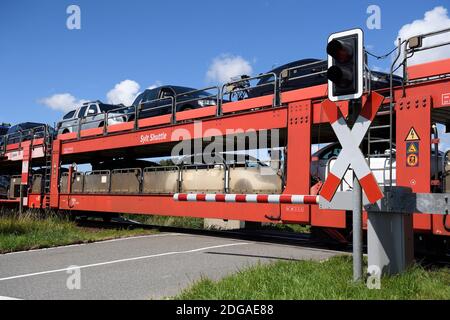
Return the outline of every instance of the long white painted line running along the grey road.
<path id="1" fill-rule="evenodd" d="M 110 264 L 116 264 L 121 262 L 130 262 L 130 261 L 137 261 L 137 260 L 144 260 L 144 259 L 151 259 L 151 258 L 157 258 L 157 257 L 164 257 L 164 256 L 171 256 L 171 255 L 177 255 L 177 254 L 187 254 L 187 253 L 196 253 L 201 252 L 205 250 L 210 249 L 219 249 L 219 248 L 226 248 L 226 247 L 234 247 L 234 246 L 242 246 L 242 245 L 248 245 L 250 243 L 248 242 L 238 242 L 238 243 L 229 243 L 229 244 L 222 244 L 217 246 L 211 246 L 211 247 L 203 247 L 198 249 L 192 249 L 187 251 L 172 251 L 172 252 L 164 252 L 164 253 L 158 253 L 158 254 L 152 254 L 148 256 L 141 256 L 141 257 L 135 257 L 135 258 L 127 258 L 127 259 L 120 259 L 120 260 L 113 260 L 113 261 L 107 261 L 107 262 L 100 262 L 100 263 L 94 263 L 94 264 L 88 264 L 84 266 L 77 266 L 76 269 L 86 269 L 86 268 L 94 268 L 94 267 L 100 267 Z M 64 268 L 64 269 L 56 269 L 56 270 L 49 270 L 49 271 L 42 271 L 42 272 L 35 272 L 35 273 L 28 273 L 28 274 L 22 274 L 18 276 L 12 276 L 7 278 L 0 278 L 0 281 L 7 281 L 7 280 L 14 280 L 14 279 L 21 279 L 21 278 L 29 278 L 34 276 L 40 276 L 45 274 L 51 274 L 51 273 L 58 273 L 58 272 L 66 272 L 69 270 L 75 269 L 72 268 Z"/>

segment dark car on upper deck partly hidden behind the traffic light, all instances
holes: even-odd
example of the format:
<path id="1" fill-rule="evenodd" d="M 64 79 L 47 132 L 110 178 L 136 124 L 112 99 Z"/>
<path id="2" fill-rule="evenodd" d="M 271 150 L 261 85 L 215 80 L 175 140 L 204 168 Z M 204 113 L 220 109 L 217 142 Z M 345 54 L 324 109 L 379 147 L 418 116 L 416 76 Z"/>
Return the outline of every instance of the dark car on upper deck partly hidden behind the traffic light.
<path id="1" fill-rule="evenodd" d="M 260 97 L 274 92 L 274 80 L 276 75 L 280 81 L 280 91 L 290 91 L 328 83 L 328 62 L 318 59 L 302 59 L 274 68 L 263 75 L 254 88 L 248 90 L 248 97 Z M 389 74 L 372 71 L 371 87 L 373 90 L 388 88 Z M 399 86 L 402 78 L 393 77 L 393 84 Z"/>

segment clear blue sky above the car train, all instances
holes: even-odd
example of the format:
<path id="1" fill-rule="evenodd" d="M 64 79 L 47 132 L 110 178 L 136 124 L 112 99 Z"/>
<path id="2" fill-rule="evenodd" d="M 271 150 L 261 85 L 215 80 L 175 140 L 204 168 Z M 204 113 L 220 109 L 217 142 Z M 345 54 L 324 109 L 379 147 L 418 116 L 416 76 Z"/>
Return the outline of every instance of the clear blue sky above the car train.
<path id="1" fill-rule="evenodd" d="M 66 8 L 81 8 L 81 30 L 68 30 Z M 368 30 L 369 5 L 381 8 L 380 30 Z M 365 31 L 377 54 L 393 48 L 405 24 L 447 1 L 139 1 L 2 0 L 0 122 L 53 123 L 62 111 L 42 99 L 70 94 L 108 100 L 130 79 L 205 87 L 213 60 L 239 56 L 254 73 L 307 57 L 325 58 L 328 35 Z M 389 61 L 372 65 L 381 69 Z"/>

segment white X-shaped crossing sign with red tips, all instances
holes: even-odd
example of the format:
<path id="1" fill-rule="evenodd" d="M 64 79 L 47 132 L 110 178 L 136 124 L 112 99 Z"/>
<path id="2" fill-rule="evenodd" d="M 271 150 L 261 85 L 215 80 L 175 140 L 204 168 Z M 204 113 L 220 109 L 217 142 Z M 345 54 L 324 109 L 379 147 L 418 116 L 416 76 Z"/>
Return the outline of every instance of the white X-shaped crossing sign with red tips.
<path id="1" fill-rule="evenodd" d="M 333 199 L 350 166 L 358 177 L 361 187 L 370 203 L 374 203 L 384 197 L 359 148 L 383 100 L 383 96 L 372 93 L 362 107 L 361 114 L 358 116 L 352 130 L 348 127 L 344 116 L 334 102 L 325 100 L 322 103 L 322 108 L 342 146 L 342 151 L 334 166 L 331 168 L 330 174 L 320 193 L 327 201 Z"/>

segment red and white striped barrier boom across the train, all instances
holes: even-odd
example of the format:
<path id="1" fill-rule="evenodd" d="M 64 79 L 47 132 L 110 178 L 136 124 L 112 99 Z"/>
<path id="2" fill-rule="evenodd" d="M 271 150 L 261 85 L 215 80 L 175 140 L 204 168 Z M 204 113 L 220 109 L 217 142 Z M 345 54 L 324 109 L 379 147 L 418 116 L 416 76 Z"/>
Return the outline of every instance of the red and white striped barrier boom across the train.
<path id="1" fill-rule="evenodd" d="M 238 203 L 285 203 L 319 204 L 319 196 L 275 194 L 199 194 L 177 193 L 175 201 L 181 202 L 238 202 Z"/>

